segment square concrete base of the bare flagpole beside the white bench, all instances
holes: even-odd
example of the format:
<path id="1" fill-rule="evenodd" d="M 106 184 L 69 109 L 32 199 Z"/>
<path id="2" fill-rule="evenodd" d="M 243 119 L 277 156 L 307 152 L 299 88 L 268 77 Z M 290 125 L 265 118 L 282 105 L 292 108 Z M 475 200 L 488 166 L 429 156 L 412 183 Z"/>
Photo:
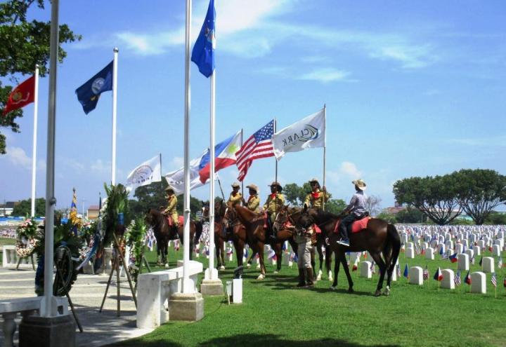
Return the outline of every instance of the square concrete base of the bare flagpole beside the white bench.
<path id="1" fill-rule="evenodd" d="M 204 318 L 204 299 L 200 293 L 174 293 L 169 299 L 169 319 L 195 322 Z"/>

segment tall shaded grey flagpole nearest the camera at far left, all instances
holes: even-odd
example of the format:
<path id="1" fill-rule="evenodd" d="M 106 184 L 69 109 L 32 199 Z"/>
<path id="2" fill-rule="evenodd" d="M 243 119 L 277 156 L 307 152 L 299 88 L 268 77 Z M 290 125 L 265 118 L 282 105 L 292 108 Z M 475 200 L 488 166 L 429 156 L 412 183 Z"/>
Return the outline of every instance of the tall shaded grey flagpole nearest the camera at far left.
<path id="1" fill-rule="evenodd" d="M 40 315 L 53 317 L 53 247 L 54 247 L 54 196 L 55 131 L 56 131 L 56 69 L 58 69 L 58 0 L 51 1 L 51 40 L 49 48 L 49 97 L 46 156 L 46 226 L 44 241 L 44 299 Z M 55 310 L 53 311 L 53 308 Z"/>

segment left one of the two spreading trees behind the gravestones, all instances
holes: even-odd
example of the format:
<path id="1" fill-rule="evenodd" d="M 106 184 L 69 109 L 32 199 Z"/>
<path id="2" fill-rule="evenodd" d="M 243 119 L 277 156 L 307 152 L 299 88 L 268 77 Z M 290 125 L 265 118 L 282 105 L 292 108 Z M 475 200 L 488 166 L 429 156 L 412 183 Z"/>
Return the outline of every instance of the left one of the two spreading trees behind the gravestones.
<path id="1" fill-rule="evenodd" d="M 395 182 L 394 195 L 398 203 L 416 207 L 434 223 L 444 225 L 462 213 L 457 183 L 454 175 L 411 177 Z"/>

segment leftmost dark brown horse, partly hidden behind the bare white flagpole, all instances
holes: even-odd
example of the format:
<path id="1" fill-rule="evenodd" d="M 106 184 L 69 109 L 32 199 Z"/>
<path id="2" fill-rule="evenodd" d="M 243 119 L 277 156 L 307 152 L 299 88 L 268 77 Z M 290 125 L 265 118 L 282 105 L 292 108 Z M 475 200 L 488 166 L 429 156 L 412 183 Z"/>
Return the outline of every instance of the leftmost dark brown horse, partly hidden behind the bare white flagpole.
<path id="1" fill-rule="evenodd" d="M 167 263 L 167 254 L 169 249 L 169 240 L 183 239 L 183 224 L 179 224 L 176 229 L 174 226 L 169 226 L 169 221 L 160 210 L 151 208 L 145 215 L 145 222 L 153 228 L 155 238 L 157 240 L 157 264 L 164 264 L 165 268 L 169 268 Z M 200 232 L 199 232 L 200 231 Z M 197 224 L 193 221 L 190 222 L 190 259 L 192 259 L 192 250 L 194 245 L 194 238 L 198 242 L 200 234 L 202 233 L 202 224 Z"/>

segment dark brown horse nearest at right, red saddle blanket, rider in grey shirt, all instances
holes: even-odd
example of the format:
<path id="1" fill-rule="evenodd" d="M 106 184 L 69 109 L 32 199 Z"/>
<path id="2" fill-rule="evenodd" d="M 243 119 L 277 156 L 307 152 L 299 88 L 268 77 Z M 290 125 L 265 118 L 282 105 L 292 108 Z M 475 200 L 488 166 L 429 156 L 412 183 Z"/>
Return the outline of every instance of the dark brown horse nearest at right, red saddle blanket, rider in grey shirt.
<path id="1" fill-rule="evenodd" d="M 337 221 L 342 219 L 342 215 L 332 215 L 332 213 L 324 212 L 315 208 L 308 208 L 304 205 L 304 210 L 297 221 L 297 226 L 301 228 L 312 228 L 313 224 L 317 224 L 322 233 L 329 239 L 330 247 L 336 254 L 334 267 L 334 283 L 330 287 L 335 290 L 337 287 L 337 275 L 339 275 L 339 264 L 344 267 L 346 278 L 348 278 L 348 292 L 353 292 L 353 281 L 349 273 L 348 264 L 346 263 L 346 252 L 363 252 L 368 251 L 372 259 L 380 266 L 380 279 L 378 280 L 375 297 L 379 297 L 382 293 L 384 275 L 387 273 L 387 287 L 384 295 L 390 294 L 391 273 L 394 271 L 398 254 L 401 250 L 401 238 L 398 235 L 394 224 L 379 218 L 371 218 L 365 229 L 357 233 L 350 233 L 350 245 L 344 246 L 337 241 L 339 235 L 334 232 Z"/>

